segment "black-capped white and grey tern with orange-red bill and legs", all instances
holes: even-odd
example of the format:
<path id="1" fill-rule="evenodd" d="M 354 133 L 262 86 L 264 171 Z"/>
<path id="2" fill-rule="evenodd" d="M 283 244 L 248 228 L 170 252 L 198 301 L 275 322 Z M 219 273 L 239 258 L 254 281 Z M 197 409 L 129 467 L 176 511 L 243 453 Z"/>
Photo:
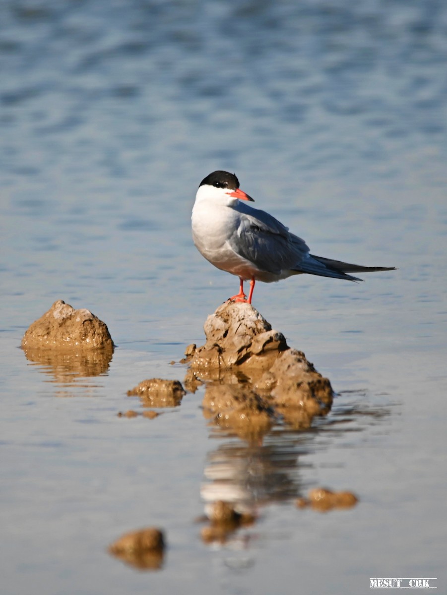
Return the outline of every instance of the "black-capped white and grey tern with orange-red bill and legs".
<path id="1" fill-rule="evenodd" d="M 271 283 L 304 273 L 362 281 L 349 273 L 395 270 L 315 256 L 301 237 L 249 202 L 254 199 L 239 188 L 236 175 L 217 170 L 201 181 L 192 209 L 196 248 L 215 267 L 239 277 L 239 293 L 230 300 L 251 304 L 256 281 Z M 248 297 L 244 281 L 250 282 Z"/>

